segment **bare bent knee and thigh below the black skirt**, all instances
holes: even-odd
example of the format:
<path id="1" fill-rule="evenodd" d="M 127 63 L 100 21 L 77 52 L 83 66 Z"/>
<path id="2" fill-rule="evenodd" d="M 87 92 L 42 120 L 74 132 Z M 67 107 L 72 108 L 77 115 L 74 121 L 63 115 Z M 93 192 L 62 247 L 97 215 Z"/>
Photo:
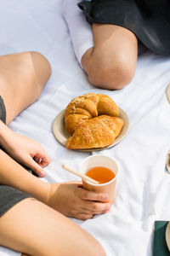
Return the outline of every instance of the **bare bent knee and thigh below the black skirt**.
<path id="1" fill-rule="evenodd" d="M 94 24 L 94 48 L 82 55 L 82 67 L 96 87 L 122 89 L 133 79 L 138 41 L 122 26 Z"/>

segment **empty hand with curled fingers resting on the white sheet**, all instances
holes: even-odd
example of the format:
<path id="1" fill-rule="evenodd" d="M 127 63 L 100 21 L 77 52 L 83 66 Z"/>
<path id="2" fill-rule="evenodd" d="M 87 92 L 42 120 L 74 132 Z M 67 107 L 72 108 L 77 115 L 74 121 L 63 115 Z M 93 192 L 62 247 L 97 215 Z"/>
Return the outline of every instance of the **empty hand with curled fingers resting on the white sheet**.
<path id="1" fill-rule="evenodd" d="M 48 166 L 50 158 L 40 143 L 8 129 L 1 144 L 14 160 L 31 168 L 40 177 L 45 176 L 42 168 Z"/>

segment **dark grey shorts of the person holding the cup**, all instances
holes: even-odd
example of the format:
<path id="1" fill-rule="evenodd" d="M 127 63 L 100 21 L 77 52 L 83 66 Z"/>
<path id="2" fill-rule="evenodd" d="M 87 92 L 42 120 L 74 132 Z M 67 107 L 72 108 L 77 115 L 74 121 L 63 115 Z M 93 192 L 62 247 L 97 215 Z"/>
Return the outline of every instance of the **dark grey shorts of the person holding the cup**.
<path id="1" fill-rule="evenodd" d="M 0 119 L 3 123 L 6 123 L 6 110 L 3 102 L 3 98 L 0 96 Z M 1 153 L 0 153 L 1 154 Z M 0 184 L 0 217 L 7 212 L 11 207 L 20 202 L 23 199 L 32 197 L 20 190 L 14 189 L 9 186 Z"/>

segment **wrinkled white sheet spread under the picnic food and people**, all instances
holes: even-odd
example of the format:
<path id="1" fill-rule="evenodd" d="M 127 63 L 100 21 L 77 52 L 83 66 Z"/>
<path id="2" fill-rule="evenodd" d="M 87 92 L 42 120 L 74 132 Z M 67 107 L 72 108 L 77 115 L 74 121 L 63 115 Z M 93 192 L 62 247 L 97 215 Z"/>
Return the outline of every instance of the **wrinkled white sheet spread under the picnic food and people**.
<path id="1" fill-rule="evenodd" d="M 120 170 L 116 201 L 111 212 L 85 222 L 107 256 L 150 256 L 153 224 L 170 219 L 170 176 L 165 157 L 170 147 L 170 105 L 165 90 L 170 82 L 170 59 L 149 51 L 139 56 L 133 79 L 124 90 L 94 89 L 77 63 L 61 12 L 62 0 L 0 0 L 0 54 L 37 50 L 48 57 L 52 78 L 40 99 L 14 119 L 10 128 L 37 139 L 52 163 L 48 182 L 74 180 L 61 164 L 78 168 L 88 153 L 65 149 L 51 131 L 52 121 L 75 96 L 105 93 L 123 108 L 131 122 L 127 137 L 114 148 L 95 154 L 113 157 Z M 24 86 L 24 84 L 23 84 Z M 17 256 L 0 247 L 1 256 Z"/>

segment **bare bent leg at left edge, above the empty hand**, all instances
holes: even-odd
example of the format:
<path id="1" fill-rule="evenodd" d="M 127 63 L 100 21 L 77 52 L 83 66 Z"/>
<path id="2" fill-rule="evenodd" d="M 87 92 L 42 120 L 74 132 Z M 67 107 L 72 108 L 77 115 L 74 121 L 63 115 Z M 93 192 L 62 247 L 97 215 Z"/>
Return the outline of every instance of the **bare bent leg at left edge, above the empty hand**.
<path id="1" fill-rule="evenodd" d="M 0 56 L 0 96 L 9 124 L 35 102 L 51 74 L 48 60 L 37 52 Z"/>

